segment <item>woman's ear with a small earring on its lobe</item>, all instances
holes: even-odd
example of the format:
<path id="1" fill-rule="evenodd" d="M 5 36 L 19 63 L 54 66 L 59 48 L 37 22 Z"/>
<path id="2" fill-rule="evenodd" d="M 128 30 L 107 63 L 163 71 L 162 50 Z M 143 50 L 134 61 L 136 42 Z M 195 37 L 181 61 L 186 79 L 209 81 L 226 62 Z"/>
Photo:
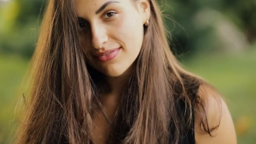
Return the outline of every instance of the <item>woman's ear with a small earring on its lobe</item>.
<path id="1" fill-rule="evenodd" d="M 150 2 L 149 0 L 139 0 L 139 8 L 144 19 L 144 23 L 149 20 L 150 17 Z"/>

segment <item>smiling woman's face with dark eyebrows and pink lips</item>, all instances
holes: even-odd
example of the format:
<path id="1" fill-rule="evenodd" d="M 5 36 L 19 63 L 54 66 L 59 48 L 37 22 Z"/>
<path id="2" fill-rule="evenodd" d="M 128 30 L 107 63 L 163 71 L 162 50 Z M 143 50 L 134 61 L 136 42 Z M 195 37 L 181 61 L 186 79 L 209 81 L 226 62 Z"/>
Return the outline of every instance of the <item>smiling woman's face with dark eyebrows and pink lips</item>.
<path id="1" fill-rule="evenodd" d="M 122 75 L 139 55 L 150 10 L 147 0 L 138 1 L 77 0 L 80 43 L 91 67 L 106 76 Z"/>

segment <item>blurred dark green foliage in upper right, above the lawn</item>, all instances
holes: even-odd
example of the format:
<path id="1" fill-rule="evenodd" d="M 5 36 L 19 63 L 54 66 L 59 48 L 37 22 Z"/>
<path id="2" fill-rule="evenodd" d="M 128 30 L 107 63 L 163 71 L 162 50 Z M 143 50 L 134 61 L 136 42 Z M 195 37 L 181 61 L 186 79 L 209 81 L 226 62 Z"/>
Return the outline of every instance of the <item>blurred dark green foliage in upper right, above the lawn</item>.
<path id="1" fill-rule="evenodd" d="M 241 41 L 238 43 L 240 46 L 238 49 L 246 49 L 248 42 L 256 41 L 254 8 L 256 8 L 255 0 L 246 0 L 246 2 L 241 0 L 168 0 L 164 9 L 166 9 L 165 15 L 171 17 L 171 20 L 165 19 L 172 34 L 171 48 L 176 55 L 188 53 L 188 56 L 202 51 L 219 51 L 220 47 L 230 47 L 221 50 L 230 49 L 232 52 L 231 48 L 237 44 L 238 40 Z M 216 13 L 207 16 L 211 13 L 204 13 L 205 9 L 216 11 Z M 207 27 L 202 27 L 198 23 L 199 13 L 205 15 L 202 21 L 208 21 Z M 220 32 L 221 26 L 227 27 L 229 30 L 227 32 L 232 32 L 230 33 L 232 39 L 223 36 L 225 32 Z M 226 29 L 222 28 L 222 30 Z M 245 36 L 246 39 L 243 38 Z M 227 43 L 230 45 L 227 46 Z"/>

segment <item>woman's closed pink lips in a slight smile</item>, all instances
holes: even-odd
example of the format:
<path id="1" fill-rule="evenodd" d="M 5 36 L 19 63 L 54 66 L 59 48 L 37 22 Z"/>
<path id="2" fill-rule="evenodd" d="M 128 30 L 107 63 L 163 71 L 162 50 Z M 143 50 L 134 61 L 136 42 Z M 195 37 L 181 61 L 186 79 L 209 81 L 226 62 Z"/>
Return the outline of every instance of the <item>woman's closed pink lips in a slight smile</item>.
<path id="1" fill-rule="evenodd" d="M 102 53 L 97 53 L 94 56 L 100 61 L 110 61 L 118 55 L 120 50 L 121 48 L 115 48 L 112 50 L 104 51 Z"/>

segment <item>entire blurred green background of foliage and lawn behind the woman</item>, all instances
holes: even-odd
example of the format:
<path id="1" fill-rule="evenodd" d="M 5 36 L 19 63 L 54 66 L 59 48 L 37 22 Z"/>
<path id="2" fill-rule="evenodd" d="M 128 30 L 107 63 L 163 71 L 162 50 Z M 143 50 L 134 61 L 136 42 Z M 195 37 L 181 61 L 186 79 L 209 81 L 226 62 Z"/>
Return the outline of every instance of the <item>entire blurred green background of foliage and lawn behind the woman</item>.
<path id="1" fill-rule="evenodd" d="M 14 107 L 44 7 L 45 0 L 0 0 L 0 144 L 16 131 Z M 161 8 L 172 51 L 223 94 L 238 143 L 255 144 L 256 0 L 166 0 Z"/>

